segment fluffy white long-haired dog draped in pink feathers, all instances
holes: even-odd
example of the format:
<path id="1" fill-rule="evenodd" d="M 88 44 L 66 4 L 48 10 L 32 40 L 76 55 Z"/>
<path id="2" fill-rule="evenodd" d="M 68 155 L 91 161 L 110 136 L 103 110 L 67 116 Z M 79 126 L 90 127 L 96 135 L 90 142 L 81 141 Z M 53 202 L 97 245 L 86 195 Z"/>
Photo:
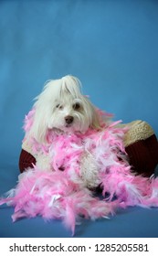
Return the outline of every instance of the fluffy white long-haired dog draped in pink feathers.
<path id="1" fill-rule="evenodd" d="M 54 133 L 86 133 L 88 129 L 101 130 L 100 114 L 87 96 L 81 93 L 80 81 L 73 76 L 65 76 L 59 80 L 49 80 L 36 98 L 34 121 L 26 134 L 23 148 L 34 155 L 37 167 L 51 171 L 52 154 L 33 153 L 28 146 L 28 136 L 35 138 L 39 144 L 47 144 L 47 131 Z M 99 166 L 89 150 L 85 151 L 80 160 L 83 184 L 86 187 L 99 185 Z"/>

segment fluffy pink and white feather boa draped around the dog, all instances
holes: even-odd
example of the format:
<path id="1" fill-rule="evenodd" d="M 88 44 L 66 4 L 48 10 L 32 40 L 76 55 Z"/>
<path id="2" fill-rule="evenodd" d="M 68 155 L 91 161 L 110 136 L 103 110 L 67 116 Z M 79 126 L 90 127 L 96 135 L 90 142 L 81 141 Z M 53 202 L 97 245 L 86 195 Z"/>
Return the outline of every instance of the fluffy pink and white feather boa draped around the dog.
<path id="1" fill-rule="evenodd" d="M 26 135 L 32 125 L 34 111 L 26 116 Z M 13 220 L 37 215 L 44 219 L 62 219 L 74 233 L 79 217 L 107 218 L 116 208 L 127 206 L 158 207 L 158 178 L 134 176 L 123 146 L 124 128 L 116 123 L 105 125 L 101 132 L 89 129 L 87 133 L 47 133 L 47 145 L 32 139 L 36 153 L 50 155 L 51 172 L 41 171 L 35 165 L 19 176 L 16 188 L 2 198 L 0 204 L 15 207 Z M 94 197 L 82 183 L 80 159 L 90 152 L 97 160 L 98 179 L 102 195 Z M 60 169 L 64 171 L 60 171 Z M 116 200 L 113 200 L 114 197 Z"/>

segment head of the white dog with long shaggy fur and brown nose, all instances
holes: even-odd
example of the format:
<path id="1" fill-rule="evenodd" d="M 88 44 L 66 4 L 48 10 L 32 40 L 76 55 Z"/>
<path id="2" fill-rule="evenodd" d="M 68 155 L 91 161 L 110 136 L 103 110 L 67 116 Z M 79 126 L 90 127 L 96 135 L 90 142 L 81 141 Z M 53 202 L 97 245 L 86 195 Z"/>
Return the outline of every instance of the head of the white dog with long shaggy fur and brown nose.
<path id="1" fill-rule="evenodd" d="M 46 142 L 47 130 L 85 133 L 89 127 L 100 129 L 96 108 L 81 93 L 80 81 L 72 76 L 49 80 L 36 98 L 31 135 Z"/>

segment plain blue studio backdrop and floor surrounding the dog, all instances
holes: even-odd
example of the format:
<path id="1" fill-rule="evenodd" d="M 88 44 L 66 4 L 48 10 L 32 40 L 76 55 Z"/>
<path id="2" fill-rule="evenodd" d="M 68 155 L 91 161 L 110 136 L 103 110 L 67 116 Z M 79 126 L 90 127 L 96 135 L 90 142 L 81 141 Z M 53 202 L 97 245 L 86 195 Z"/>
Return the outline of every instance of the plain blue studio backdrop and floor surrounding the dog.
<path id="1" fill-rule="evenodd" d="M 33 99 L 46 80 L 67 74 L 116 120 L 142 119 L 158 134 L 158 1 L 0 1 L 0 194 L 16 185 Z M 0 209 L 1 237 L 70 236 L 57 220 L 11 224 L 12 213 Z M 157 219 L 157 209 L 129 208 L 111 220 L 84 220 L 77 236 L 154 237 Z"/>

